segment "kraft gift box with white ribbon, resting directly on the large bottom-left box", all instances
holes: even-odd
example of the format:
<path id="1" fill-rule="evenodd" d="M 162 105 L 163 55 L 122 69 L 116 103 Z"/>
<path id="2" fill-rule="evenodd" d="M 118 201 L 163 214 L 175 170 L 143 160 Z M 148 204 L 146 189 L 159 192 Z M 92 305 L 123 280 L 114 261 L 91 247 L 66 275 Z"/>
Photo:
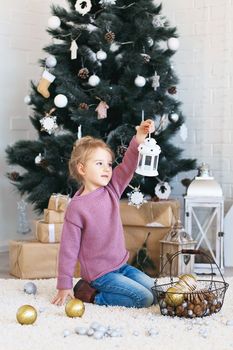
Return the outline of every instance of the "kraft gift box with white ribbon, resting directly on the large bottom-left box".
<path id="1" fill-rule="evenodd" d="M 63 223 L 50 223 L 42 220 L 34 221 L 35 236 L 42 243 L 58 243 L 61 241 Z"/>

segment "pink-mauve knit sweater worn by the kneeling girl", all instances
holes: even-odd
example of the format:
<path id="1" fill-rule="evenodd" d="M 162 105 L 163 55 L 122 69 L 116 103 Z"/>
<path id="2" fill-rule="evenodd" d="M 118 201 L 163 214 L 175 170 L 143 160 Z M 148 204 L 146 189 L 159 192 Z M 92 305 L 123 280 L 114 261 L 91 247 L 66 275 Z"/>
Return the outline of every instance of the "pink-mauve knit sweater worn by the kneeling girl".
<path id="1" fill-rule="evenodd" d="M 136 169 L 137 147 L 133 137 L 107 186 L 83 196 L 78 191 L 72 198 L 62 231 L 58 289 L 72 288 L 77 260 L 81 276 L 88 282 L 118 269 L 127 261 L 119 199 Z"/>

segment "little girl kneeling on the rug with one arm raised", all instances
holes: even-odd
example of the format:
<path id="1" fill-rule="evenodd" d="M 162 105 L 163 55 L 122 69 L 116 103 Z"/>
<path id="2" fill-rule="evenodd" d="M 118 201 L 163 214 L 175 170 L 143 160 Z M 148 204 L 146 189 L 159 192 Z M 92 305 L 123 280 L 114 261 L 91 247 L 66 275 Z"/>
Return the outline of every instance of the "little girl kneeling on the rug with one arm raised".
<path id="1" fill-rule="evenodd" d="M 120 197 L 137 166 L 138 145 L 153 131 L 153 121 L 143 121 L 114 170 L 113 153 L 102 140 L 87 136 L 76 142 L 69 169 L 82 187 L 65 215 L 53 304 L 62 305 L 74 296 L 98 305 L 141 308 L 153 304 L 153 279 L 127 264 L 129 254 L 119 211 Z M 82 279 L 73 293 L 77 260 Z"/>

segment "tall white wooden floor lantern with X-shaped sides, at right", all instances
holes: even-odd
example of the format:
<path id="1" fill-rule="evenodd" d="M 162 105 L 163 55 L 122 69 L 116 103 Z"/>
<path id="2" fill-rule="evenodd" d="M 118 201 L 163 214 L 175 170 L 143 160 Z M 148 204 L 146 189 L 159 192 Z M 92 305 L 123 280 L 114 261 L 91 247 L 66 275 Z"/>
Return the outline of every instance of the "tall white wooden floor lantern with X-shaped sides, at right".
<path id="1" fill-rule="evenodd" d="M 196 255 L 196 273 L 218 273 L 216 265 L 224 272 L 223 217 L 222 189 L 214 177 L 209 175 L 208 166 L 203 163 L 185 196 L 185 229 L 197 241 L 195 249 L 207 253 L 212 263 L 204 260 L 202 255 Z"/>

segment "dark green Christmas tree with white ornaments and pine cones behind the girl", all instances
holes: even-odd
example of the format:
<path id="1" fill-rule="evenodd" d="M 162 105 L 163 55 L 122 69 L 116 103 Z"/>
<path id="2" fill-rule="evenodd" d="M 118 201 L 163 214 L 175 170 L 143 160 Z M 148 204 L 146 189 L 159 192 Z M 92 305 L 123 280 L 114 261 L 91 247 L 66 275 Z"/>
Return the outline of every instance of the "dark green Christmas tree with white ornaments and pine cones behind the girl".
<path id="1" fill-rule="evenodd" d="M 144 116 L 155 120 L 151 137 L 161 148 L 159 176 L 135 174 L 131 186 L 154 196 L 158 182 L 195 168 L 195 160 L 182 159 L 182 149 L 172 144 L 184 123 L 171 62 L 179 46 L 177 29 L 150 0 L 67 2 L 69 10 L 52 6 L 47 31 L 53 40 L 40 60 L 41 80 L 32 82 L 25 98 L 38 139 L 7 147 L 8 163 L 24 169 L 8 177 L 43 210 L 52 193 L 72 196 L 78 188 L 68 174 L 77 138 L 102 138 L 117 164 Z"/>

